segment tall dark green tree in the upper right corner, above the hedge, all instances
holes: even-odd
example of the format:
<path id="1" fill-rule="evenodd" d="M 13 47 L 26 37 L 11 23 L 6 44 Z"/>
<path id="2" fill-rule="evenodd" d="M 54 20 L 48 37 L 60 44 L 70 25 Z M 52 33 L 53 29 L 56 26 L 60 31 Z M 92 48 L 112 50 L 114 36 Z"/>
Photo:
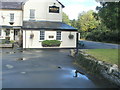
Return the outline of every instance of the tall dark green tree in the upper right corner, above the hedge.
<path id="1" fill-rule="evenodd" d="M 101 2 L 97 7 L 102 22 L 112 31 L 120 29 L 120 2 Z"/>

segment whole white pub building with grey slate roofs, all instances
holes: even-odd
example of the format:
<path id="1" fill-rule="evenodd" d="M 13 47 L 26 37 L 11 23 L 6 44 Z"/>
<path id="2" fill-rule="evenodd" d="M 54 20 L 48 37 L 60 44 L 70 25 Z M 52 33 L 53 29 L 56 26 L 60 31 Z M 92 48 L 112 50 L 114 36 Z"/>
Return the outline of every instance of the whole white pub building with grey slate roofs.
<path id="1" fill-rule="evenodd" d="M 62 23 L 63 8 L 58 0 L 2 2 L 0 38 L 23 42 L 23 48 L 76 48 L 77 29 Z M 45 40 L 58 40 L 61 44 L 43 47 Z"/>

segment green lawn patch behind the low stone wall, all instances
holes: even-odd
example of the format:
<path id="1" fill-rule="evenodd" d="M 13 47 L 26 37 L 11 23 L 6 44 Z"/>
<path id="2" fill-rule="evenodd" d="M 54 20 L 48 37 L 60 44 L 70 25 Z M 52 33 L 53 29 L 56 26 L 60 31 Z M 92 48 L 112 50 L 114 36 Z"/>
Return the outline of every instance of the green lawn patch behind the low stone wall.
<path id="1" fill-rule="evenodd" d="M 98 60 L 118 65 L 118 49 L 86 49 L 85 51 Z"/>

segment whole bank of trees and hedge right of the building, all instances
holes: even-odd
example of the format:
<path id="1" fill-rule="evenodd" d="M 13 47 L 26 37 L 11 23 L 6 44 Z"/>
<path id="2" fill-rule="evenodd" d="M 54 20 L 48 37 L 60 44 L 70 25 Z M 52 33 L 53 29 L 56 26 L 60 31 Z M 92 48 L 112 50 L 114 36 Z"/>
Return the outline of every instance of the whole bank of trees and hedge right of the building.
<path id="1" fill-rule="evenodd" d="M 81 38 L 93 41 L 120 43 L 120 2 L 101 2 L 92 10 L 79 14 L 77 20 L 69 20 L 63 13 L 63 22 L 78 29 Z"/>

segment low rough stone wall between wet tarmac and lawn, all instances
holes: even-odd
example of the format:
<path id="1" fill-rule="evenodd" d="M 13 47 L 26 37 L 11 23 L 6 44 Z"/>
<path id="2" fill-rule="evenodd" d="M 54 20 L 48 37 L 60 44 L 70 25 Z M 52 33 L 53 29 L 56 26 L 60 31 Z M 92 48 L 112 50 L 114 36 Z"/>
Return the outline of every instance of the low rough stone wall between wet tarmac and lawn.
<path id="1" fill-rule="evenodd" d="M 70 51 L 71 56 L 75 58 L 80 66 L 85 67 L 87 71 L 108 79 L 112 83 L 120 86 L 120 69 L 116 64 L 108 64 L 104 61 L 96 60 L 89 54 L 86 54 L 84 50 L 80 50 L 76 54 L 76 50 Z"/>

